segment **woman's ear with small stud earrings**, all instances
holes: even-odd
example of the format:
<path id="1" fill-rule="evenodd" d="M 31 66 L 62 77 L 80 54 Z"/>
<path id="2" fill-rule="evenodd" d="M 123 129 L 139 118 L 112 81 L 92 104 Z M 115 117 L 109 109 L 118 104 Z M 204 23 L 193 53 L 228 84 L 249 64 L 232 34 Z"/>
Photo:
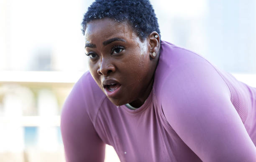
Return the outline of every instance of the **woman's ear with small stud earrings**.
<path id="1" fill-rule="evenodd" d="M 149 39 L 149 52 L 150 52 L 150 57 L 155 58 L 157 55 L 159 55 L 159 49 L 160 49 L 160 37 L 159 34 L 154 31 L 151 32 L 150 35 L 148 35 Z"/>

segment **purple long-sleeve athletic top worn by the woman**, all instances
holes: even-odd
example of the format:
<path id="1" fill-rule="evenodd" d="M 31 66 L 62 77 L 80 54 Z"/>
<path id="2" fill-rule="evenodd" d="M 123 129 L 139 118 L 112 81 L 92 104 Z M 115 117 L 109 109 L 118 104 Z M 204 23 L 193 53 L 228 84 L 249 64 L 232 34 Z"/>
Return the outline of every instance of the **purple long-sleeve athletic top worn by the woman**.
<path id="1" fill-rule="evenodd" d="M 256 88 L 162 41 L 141 107 L 116 107 L 86 72 L 64 104 L 61 133 L 67 162 L 103 162 L 105 144 L 121 162 L 256 162 Z"/>

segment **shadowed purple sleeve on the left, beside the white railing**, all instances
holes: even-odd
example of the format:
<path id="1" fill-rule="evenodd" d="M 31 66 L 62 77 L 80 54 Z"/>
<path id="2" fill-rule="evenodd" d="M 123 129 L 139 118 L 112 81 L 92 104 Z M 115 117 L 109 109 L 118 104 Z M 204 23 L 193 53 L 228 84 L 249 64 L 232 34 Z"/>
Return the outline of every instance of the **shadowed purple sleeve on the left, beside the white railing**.
<path id="1" fill-rule="evenodd" d="M 61 135 L 67 162 L 104 162 L 105 144 L 97 135 L 84 107 L 77 83 L 61 112 Z"/>

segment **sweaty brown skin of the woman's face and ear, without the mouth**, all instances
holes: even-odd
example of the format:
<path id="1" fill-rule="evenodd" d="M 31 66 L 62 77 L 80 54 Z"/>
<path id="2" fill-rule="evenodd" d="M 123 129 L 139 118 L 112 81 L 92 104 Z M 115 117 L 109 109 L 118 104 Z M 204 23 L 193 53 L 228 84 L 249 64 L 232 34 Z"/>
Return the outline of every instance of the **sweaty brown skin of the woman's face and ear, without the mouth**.
<path id="1" fill-rule="evenodd" d="M 106 43 L 113 38 L 118 39 Z M 115 79 L 121 85 L 115 97 L 106 94 L 109 100 L 117 106 L 127 103 L 133 107 L 143 105 L 154 82 L 159 59 L 159 34 L 154 31 L 145 40 L 140 40 L 128 22 L 104 18 L 87 24 L 85 40 L 89 70 L 100 89 L 106 94 L 102 85 L 106 79 Z M 153 52 L 156 52 L 156 57 L 153 57 Z"/>

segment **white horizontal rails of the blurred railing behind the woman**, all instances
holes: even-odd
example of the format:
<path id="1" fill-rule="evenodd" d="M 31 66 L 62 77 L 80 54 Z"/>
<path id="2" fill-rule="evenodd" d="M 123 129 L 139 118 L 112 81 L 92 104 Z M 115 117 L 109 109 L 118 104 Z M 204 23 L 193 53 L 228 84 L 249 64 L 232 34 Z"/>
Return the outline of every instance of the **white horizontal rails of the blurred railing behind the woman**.
<path id="1" fill-rule="evenodd" d="M 67 87 L 71 90 L 83 72 L 36 72 L 36 71 L 0 71 L 0 85 L 18 84 L 22 86 Z M 232 74 L 237 80 L 256 87 L 255 74 Z M 48 121 L 49 126 L 59 126 L 60 116 L 21 116 L 15 117 L 20 126 L 40 126 Z M 0 123 L 12 122 L 11 117 L 0 117 Z"/>

